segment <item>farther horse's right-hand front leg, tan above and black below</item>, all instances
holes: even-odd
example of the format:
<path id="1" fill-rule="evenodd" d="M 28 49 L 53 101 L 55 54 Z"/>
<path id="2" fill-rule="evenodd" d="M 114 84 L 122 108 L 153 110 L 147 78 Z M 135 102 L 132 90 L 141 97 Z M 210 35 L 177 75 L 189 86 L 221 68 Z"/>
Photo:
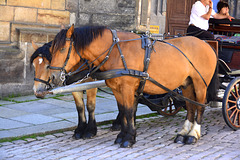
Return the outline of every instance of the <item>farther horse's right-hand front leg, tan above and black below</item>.
<path id="1" fill-rule="evenodd" d="M 97 88 L 87 90 L 87 110 L 88 124 L 84 131 L 84 138 L 92 138 L 97 134 L 97 125 L 95 119 Z"/>

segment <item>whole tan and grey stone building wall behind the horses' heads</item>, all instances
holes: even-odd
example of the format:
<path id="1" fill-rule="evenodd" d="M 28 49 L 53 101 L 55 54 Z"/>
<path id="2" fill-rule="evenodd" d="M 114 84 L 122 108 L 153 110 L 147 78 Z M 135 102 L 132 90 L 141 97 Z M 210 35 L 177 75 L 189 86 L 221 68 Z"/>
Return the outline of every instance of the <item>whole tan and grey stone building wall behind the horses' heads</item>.
<path id="1" fill-rule="evenodd" d="M 138 0 L 0 0 L 0 98 L 32 94 L 31 41 L 51 41 L 60 25 L 135 28 Z"/>

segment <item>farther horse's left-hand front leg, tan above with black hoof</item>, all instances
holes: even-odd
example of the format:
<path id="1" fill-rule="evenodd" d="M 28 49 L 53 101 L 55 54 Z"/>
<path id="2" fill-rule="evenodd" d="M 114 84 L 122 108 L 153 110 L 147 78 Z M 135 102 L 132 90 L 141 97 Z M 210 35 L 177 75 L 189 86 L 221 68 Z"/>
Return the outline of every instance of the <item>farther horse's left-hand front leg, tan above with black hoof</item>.
<path id="1" fill-rule="evenodd" d="M 72 92 L 72 95 L 75 100 L 76 109 L 78 112 L 78 126 L 74 131 L 73 138 L 80 139 L 83 138 L 84 129 L 87 127 L 85 106 L 83 102 L 83 92 Z"/>

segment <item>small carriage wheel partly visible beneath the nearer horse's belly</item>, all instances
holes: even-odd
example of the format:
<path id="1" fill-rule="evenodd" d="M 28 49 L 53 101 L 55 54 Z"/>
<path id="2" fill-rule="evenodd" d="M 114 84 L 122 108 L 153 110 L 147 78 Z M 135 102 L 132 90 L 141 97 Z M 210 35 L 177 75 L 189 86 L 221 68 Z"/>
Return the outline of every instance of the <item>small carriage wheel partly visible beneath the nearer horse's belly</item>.
<path id="1" fill-rule="evenodd" d="M 182 107 L 175 107 L 174 104 L 173 104 L 173 100 L 170 98 L 168 100 L 168 106 L 163 108 L 163 109 L 157 110 L 157 112 L 158 112 L 158 114 L 161 114 L 163 116 L 174 116 L 181 109 L 182 109 Z"/>

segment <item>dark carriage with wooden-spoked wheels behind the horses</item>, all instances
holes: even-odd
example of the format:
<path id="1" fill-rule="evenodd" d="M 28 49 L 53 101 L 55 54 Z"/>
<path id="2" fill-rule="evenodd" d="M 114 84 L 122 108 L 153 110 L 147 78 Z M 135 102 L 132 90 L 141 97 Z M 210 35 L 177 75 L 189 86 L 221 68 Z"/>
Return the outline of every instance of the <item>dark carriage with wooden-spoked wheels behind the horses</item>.
<path id="1" fill-rule="evenodd" d="M 227 125 L 237 130 L 240 129 L 240 20 L 210 19 L 209 31 L 217 40 L 208 43 L 218 52 L 219 84 L 220 90 L 224 91 L 216 101 L 222 102 L 222 114 Z M 179 88 L 175 91 L 181 93 Z M 169 93 L 145 95 L 140 103 L 166 116 L 175 115 L 185 105 L 185 101 Z"/>

